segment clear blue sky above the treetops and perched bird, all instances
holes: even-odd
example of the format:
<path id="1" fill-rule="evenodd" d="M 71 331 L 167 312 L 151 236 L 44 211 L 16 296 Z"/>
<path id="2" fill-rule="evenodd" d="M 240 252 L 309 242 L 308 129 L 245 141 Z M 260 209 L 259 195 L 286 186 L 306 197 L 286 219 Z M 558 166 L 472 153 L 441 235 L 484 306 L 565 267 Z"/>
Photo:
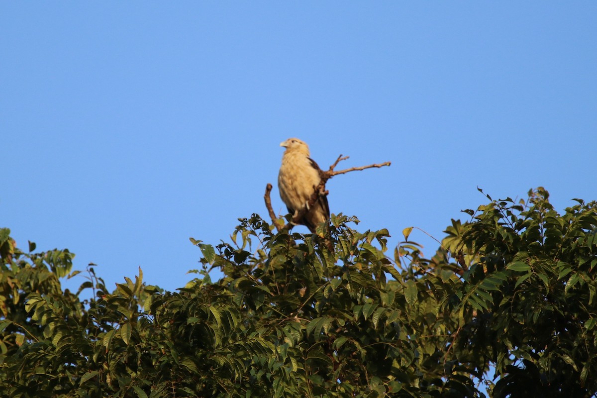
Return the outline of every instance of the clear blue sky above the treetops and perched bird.
<path id="1" fill-rule="evenodd" d="M 322 168 L 392 162 L 328 183 L 391 246 L 441 239 L 477 187 L 597 199 L 596 21 L 595 1 L 2 1 L 0 226 L 174 290 L 189 237 L 267 217 L 288 137 Z"/>

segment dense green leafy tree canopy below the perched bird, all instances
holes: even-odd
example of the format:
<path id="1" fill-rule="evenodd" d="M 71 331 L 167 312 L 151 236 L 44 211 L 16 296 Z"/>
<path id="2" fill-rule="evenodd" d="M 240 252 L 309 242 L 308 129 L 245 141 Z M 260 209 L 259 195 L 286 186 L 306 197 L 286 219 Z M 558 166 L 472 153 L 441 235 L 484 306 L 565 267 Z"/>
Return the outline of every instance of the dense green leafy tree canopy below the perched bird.
<path id="1" fill-rule="evenodd" d="M 141 270 L 109 292 L 91 264 L 62 291 L 73 255 L 22 252 L 2 229 L 0 396 L 595 394 L 595 202 L 488 199 L 429 259 L 412 228 L 392 261 L 387 230 L 355 217 L 304 236 L 254 214 L 230 242 L 191 239 L 202 269 L 178 292 Z"/>

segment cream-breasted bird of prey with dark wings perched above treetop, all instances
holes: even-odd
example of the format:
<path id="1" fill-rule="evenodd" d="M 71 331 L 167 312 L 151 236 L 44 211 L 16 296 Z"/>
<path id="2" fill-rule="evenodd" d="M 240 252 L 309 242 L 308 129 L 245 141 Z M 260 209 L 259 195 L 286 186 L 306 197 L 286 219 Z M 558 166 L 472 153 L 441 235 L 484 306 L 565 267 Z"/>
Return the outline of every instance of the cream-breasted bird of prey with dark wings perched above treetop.
<path id="1" fill-rule="evenodd" d="M 278 174 L 280 198 L 294 216 L 308 207 L 309 199 L 321 182 L 319 166 L 309 158 L 309 146 L 298 138 L 288 138 L 280 144 L 285 147 L 282 166 Z M 325 195 L 320 195 L 316 202 L 307 209 L 298 224 L 307 226 L 311 232 L 319 223 L 330 218 L 330 207 Z"/>

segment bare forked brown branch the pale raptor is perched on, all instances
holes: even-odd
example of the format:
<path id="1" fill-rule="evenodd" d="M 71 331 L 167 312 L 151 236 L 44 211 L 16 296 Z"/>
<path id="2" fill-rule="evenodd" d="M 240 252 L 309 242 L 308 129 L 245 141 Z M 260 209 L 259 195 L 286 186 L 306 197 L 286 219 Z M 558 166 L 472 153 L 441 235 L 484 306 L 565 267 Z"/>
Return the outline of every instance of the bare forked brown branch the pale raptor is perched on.
<path id="1" fill-rule="evenodd" d="M 265 190 L 265 195 L 264 195 L 265 206 L 267 208 L 267 211 L 269 212 L 269 217 L 272 218 L 272 222 L 273 222 L 274 226 L 276 227 L 276 230 L 278 230 L 278 232 L 281 229 L 290 229 L 291 227 L 293 227 L 293 225 L 297 225 L 299 223 L 299 221 L 301 220 L 301 218 L 303 218 L 304 214 L 307 211 L 309 211 L 310 208 L 315 206 L 315 202 L 317 202 L 317 200 L 319 200 L 319 198 L 321 196 L 326 196 L 326 195 L 328 195 L 328 193 L 330 193 L 329 191 L 327 191 L 325 189 L 325 183 L 327 183 L 327 181 L 330 178 L 334 177 L 334 175 L 345 174 L 349 171 L 361 171 L 364 169 L 369 169 L 369 168 L 374 168 L 374 167 L 380 168 L 380 167 L 389 166 L 392 164 L 392 162 L 374 163 L 373 165 L 351 167 L 351 168 L 343 169 L 340 171 L 334 171 L 334 168 L 336 168 L 338 163 L 340 163 L 341 161 L 344 161 L 348 158 L 349 158 L 349 156 L 343 157 L 342 155 L 340 155 L 336 159 L 336 162 L 334 162 L 333 165 L 330 166 L 330 169 L 328 169 L 327 171 L 319 169 L 319 175 L 321 176 L 321 181 L 319 182 L 318 186 L 313 187 L 314 188 L 313 195 L 311 195 L 311 197 L 307 201 L 306 206 L 304 206 L 302 209 L 300 209 L 300 211 L 295 212 L 293 215 L 292 221 L 289 224 L 286 224 L 285 226 L 282 226 L 282 227 L 280 227 L 278 225 L 279 220 L 276 217 L 276 214 L 273 212 L 273 209 L 272 209 L 272 200 L 270 199 L 270 192 L 272 192 L 272 184 L 267 184 L 266 190 Z"/>

